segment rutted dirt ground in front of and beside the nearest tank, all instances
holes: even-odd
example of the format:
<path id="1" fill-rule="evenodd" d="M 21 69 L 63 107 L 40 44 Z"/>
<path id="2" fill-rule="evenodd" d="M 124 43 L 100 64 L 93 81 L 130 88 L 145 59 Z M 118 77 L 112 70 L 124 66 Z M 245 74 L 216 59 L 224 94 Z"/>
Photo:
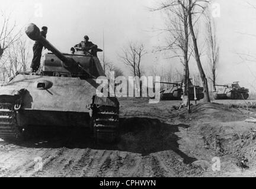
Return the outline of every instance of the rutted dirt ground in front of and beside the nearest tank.
<path id="1" fill-rule="evenodd" d="M 198 105 L 188 115 L 172 107 L 179 104 L 121 100 L 120 141 L 114 146 L 95 146 L 86 129 L 56 132 L 20 145 L 1 141 L 0 177 L 255 175 L 251 129 L 256 127 L 244 122 L 247 110 Z M 220 171 L 212 170 L 214 157 L 220 158 Z"/>

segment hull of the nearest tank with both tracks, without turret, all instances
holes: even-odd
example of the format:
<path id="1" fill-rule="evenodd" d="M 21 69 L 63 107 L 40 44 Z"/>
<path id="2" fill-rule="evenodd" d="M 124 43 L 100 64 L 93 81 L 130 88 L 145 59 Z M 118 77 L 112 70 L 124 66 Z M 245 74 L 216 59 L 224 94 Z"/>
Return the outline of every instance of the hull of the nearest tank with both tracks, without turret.
<path id="1" fill-rule="evenodd" d="M 18 74 L 0 87 L 0 138 L 20 141 L 33 127 L 89 127 L 98 142 L 115 141 L 119 102 L 98 97 L 99 85 L 95 79 Z"/>

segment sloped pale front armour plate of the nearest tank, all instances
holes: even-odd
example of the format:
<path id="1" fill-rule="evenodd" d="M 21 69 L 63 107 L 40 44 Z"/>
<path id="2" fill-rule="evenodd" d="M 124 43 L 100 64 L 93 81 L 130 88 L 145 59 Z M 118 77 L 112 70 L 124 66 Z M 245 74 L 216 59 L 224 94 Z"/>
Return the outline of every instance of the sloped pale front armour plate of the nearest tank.
<path id="1" fill-rule="evenodd" d="M 38 85 L 45 81 L 52 83 L 52 87 L 46 90 L 38 88 Z M 20 74 L 0 87 L 0 100 L 1 96 L 14 95 L 15 91 L 25 89 L 24 110 L 89 112 L 87 105 L 91 103 L 98 86 L 94 79 Z"/>

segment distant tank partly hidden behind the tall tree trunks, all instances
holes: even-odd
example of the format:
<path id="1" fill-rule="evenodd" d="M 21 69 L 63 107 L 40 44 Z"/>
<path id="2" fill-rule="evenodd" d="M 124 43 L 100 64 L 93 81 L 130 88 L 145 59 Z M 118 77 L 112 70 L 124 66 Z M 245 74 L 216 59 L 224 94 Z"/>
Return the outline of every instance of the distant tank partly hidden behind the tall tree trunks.
<path id="1" fill-rule="evenodd" d="M 181 100 L 181 96 L 183 96 L 183 82 L 160 82 L 162 84 L 171 84 L 172 87 L 161 90 L 160 92 L 160 100 Z M 204 98 L 203 87 L 194 86 L 189 80 L 188 82 L 188 90 L 189 90 L 189 99 L 194 100 L 195 95 L 194 92 L 196 90 L 196 99 L 201 100 Z"/>

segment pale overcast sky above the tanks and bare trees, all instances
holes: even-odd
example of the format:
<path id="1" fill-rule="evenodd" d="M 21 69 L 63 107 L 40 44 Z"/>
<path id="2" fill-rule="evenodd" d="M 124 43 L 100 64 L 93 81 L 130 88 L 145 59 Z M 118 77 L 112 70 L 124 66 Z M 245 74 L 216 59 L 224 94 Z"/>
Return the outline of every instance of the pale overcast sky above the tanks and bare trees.
<path id="1" fill-rule="evenodd" d="M 158 45 L 164 45 L 165 34 L 152 32 L 152 28 L 163 28 L 161 12 L 150 12 L 159 0 L 0 0 L 1 9 L 12 12 L 18 27 L 30 22 L 49 27 L 47 39 L 62 52 L 79 43 L 84 35 L 103 46 L 105 57 L 124 69 L 117 53 L 129 41 L 145 44 L 148 51 L 143 61 L 145 70 L 152 67 L 172 67 L 181 70 L 178 60 L 169 60 L 167 54 L 153 54 Z M 256 62 L 243 61 L 237 53 L 255 56 L 256 60 L 256 5 L 254 0 L 216 0 L 220 5 L 220 17 L 215 18 L 220 43 L 220 60 L 217 83 L 240 81 L 241 85 L 256 89 Z M 41 11 L 40 11 L 41 9 Z M 200 27 L 201 28 L 201 27 Z M 203 28 L 203 26 L 202 26 Z M 202 32 L 203 34 L 203 32 Z M 247 35 L 252 34 L 252 35 Z M 201 41 L 201 40 L 200 40 Z M 201 43 L 203 43 L 201 41 Z M 31 50 L 32 51 L 32 50 Z M 205 57 L 202 57 L 204 66 Z M 154 66 L 156 65 L 156 66 Z M 197 71 L 194 61 L 191 71 Z"/>

